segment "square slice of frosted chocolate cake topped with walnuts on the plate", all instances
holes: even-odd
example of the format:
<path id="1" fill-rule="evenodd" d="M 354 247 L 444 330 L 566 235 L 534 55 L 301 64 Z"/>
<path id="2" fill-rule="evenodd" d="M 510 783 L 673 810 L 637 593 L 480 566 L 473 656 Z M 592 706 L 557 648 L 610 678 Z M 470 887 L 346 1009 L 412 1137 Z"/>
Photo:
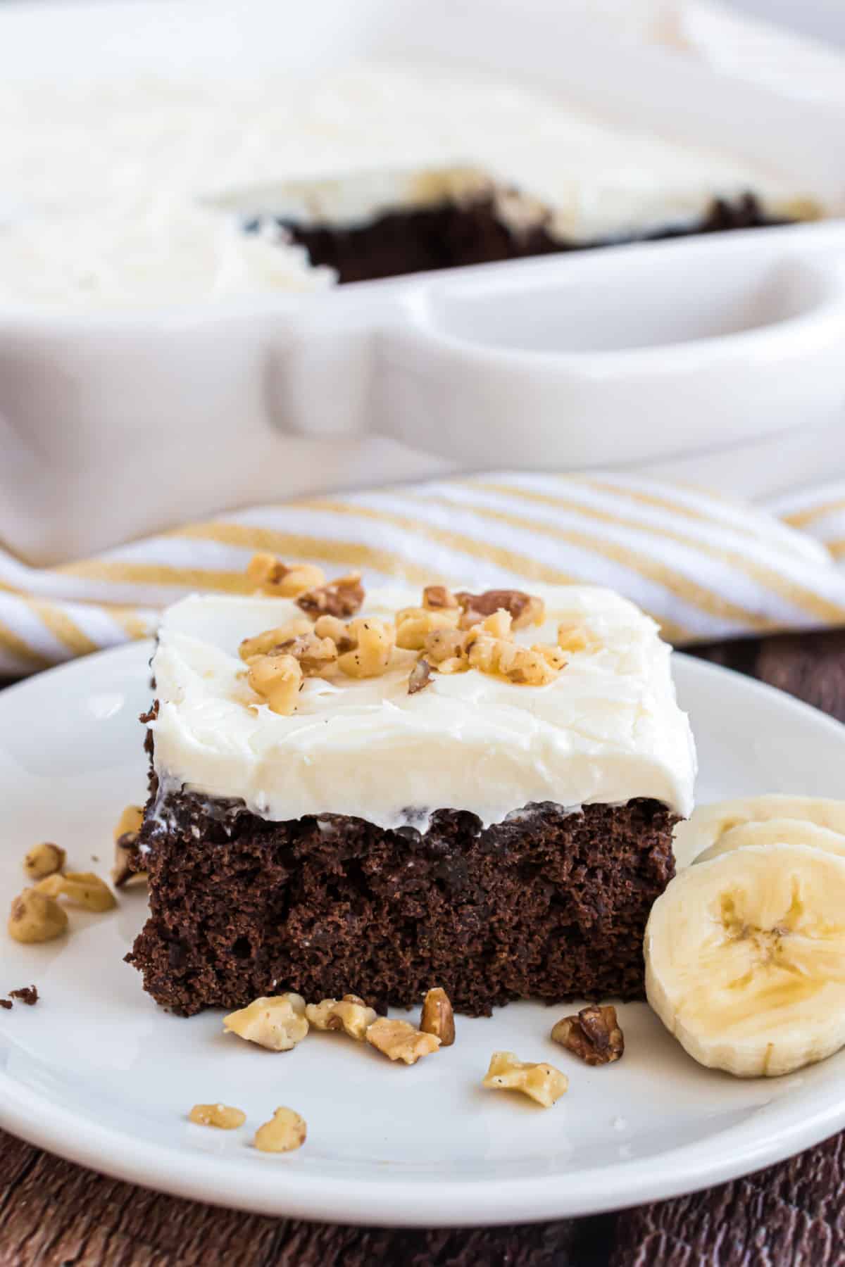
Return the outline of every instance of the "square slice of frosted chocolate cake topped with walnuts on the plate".
<path id="1" fill-rule="evenodd" d="M 262 566 L 265 593 L 295 588 Z M 283 991 L 383 1010 L 435 984 L 470 1015 L 641 997 L 696 767 L 658 627 L 580 585 L 356 603 L 165 613 L 144 988 L 181 1015 Z"/>

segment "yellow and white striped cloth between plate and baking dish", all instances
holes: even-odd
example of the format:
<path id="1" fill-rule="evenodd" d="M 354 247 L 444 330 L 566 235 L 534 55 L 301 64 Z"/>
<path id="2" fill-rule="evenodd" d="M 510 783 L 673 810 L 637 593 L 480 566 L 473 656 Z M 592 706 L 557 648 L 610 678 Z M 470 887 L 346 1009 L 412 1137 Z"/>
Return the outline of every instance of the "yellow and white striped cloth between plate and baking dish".
<path id="1" fill-rule="evenodd" d="M 56 568 L 0 549 L 0 674 L 144 637 L 193 590 L 246 593 L 256 550 L 369 584 L 609 585 L 679 645 L 845 625 L 845 484 L 760 508 L 639 475 L 489 474 L 227 513 Z"/>

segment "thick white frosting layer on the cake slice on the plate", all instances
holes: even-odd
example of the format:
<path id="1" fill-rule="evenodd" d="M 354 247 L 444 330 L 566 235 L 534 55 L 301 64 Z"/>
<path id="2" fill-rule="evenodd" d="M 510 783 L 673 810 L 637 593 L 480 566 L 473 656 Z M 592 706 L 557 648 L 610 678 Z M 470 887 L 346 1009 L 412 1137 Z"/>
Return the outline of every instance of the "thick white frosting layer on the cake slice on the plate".
<path id="1" fill-rule="evenodd" d="M 245 680 L 242 639 L 302 612 L 276 598 L 191 597 L 163 616 L 152 661 L 160 701 L 155 764 L 163 789 L 242 799 L 271 820 L 338 813 L 424 830 L 431 811 L 466 810 L 484 825 L 532 802 L 570 808 L 652 797 L 687 816 L 696 753 L 675 701 L 670 649 L 632 603 L 593 587 L 540 587 L 546 621 L 518 641 L 556 641 L 585 625 L 597 647 L 575 653 L 545 687 L 469 670 L 433 674 L 408 693 L 413 651 L 379 678 L 307 678 L 296 711 L 270 712 Z M 374 590 L 361 614 L 391 620 L 419 594 Z"/>

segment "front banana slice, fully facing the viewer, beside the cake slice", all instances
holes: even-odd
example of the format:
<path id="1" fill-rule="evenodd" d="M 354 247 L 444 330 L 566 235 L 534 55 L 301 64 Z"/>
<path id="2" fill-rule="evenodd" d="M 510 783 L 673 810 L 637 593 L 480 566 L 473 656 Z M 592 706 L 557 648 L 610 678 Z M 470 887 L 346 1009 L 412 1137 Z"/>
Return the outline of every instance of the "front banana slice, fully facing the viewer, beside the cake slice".
<path id="1" fill-rule="evenodd" d="M 696 1060 L 777 1077 L 845 1045 L 845 858 L 749 845 L 651 908 L 646 996 Z"/>

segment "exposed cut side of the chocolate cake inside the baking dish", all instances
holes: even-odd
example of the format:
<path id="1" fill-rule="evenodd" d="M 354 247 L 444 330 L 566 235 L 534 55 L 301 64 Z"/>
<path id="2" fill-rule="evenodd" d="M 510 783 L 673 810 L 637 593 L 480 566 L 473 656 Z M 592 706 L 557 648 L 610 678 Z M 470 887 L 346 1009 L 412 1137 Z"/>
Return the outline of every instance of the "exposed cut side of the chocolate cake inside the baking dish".
<path id="1" fill-rule="evenodd" d="M 821 214 L 810 199 L 731 182 L 684 190 L 682 196 L 668 190 L 664 199 L 652 195 L 641 205 L 628 195 L 631 205 L 608 220 L 473 166 L 289 181 L 256 190 L 253 198 L 250 228 L 277 224 L 305 248 L 312 266 L 332 269 L 341 284 L 798 223 Z"/>

